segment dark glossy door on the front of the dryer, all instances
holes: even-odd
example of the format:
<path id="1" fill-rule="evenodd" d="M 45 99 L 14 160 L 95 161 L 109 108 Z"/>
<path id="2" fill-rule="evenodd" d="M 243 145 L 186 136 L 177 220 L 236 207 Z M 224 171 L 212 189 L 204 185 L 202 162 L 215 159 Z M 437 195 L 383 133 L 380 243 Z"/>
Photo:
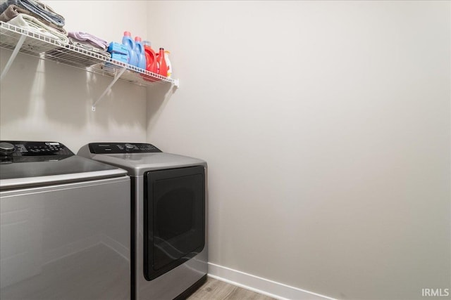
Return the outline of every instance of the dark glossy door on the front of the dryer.
<path id="1" fill-rule="evenodd" d="M 204 249 L 205 169 L 149 171 L 144 176 L 144 278 L 150 281 Z"/>

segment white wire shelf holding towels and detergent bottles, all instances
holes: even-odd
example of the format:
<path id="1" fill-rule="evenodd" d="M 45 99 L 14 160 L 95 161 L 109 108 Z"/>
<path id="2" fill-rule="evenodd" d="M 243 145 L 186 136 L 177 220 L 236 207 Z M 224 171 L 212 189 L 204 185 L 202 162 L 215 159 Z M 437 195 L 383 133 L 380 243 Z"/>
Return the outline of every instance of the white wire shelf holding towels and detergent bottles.
<path id="1" fill-rule="evenodd" d="M 99 53 L 64 43 L 58 39 L 53 39 L 6 22 L 0 22 L 0 48 L 14 51 L 21 42 L 23 44 L 20 45 L 19 53 L 36 56 L 43 60 L 63 63 L 81 68 L 87 72 L 109 77 L 116 77 L 116 74 L 125 68 L 126 70 L 121 72 L 119 80 L 140 86 L 152 86 L 163 83 L 171 83 L 178 86 L 178 80 L 176 79 L 163 77 L 133 65 L 101 56 Z"/>

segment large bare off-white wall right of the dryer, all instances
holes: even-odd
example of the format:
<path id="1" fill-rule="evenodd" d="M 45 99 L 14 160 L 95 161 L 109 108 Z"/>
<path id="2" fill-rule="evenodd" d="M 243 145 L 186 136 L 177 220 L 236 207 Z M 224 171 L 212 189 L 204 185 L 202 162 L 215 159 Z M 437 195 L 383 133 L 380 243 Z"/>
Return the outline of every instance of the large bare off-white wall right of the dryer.
<path id="1" fill-rule="evenodd" d="M 147 141 L 209 163 L 209 261 L 338 299 L 450 288 L 449 1 L 152 1 L 180 89 Z"/>

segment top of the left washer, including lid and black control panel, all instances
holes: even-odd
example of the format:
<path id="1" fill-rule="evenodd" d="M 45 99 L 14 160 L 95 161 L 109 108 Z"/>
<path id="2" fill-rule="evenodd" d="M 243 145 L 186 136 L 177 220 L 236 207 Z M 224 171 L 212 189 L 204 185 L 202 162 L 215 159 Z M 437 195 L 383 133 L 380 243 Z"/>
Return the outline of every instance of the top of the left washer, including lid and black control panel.
<path id="1" fill-rule="evenodd" d="M 79 157 L 55 142 L 1 141 L 14 151 L 0 154 L 0 190 L 124 176 L 127 171 Z"/>

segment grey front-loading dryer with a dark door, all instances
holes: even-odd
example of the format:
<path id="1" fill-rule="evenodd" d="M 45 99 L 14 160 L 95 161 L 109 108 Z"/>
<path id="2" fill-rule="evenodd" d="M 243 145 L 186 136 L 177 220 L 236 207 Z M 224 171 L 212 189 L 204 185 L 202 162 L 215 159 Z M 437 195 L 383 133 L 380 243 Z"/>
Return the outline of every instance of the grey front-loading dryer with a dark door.
<path id="1" fill-rule="evenodd" d="M 148 143 L 89 143 L 78 155 L 128 171 L 132 299 L 185 299 L 206 281 L 206 171 L 202 159 Z"/>

